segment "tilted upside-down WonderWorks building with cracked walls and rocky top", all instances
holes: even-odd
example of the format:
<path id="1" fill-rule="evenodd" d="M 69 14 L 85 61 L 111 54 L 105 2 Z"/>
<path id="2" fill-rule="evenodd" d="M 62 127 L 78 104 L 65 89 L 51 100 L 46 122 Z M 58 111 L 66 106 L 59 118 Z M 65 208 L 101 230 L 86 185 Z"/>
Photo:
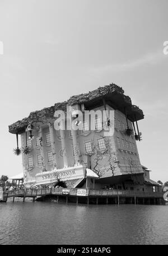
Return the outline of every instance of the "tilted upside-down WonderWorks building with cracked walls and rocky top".
<path id="1" fill-rule="evenodd" d="M 67 109 L 71 109 L 70 115 Z M 65 129 L 55 129 L 58 110 L 65 113 Z M 91 110 L 105 111 L 102 117 L 106 117 L 102 120 L 90 115 L 94 129 L 85 118 L 79 120 L 78 114 L 80 111 L 84 116 Z M 69 118 L 81 129 L 69 128 Z M 143 111 L 114 83 L 31 112 L 9 125 L 9 132 L 17 138 L 15 153 L 22 154 L 24 184 L 29 188 L 64 181 L 67 188 L 158 190 L 159 184 L 150 180 L 148 169 L 139 160 L 138 121 L 143 118 Z M 110 129 L 112 133 L 108 133 Z"/>

